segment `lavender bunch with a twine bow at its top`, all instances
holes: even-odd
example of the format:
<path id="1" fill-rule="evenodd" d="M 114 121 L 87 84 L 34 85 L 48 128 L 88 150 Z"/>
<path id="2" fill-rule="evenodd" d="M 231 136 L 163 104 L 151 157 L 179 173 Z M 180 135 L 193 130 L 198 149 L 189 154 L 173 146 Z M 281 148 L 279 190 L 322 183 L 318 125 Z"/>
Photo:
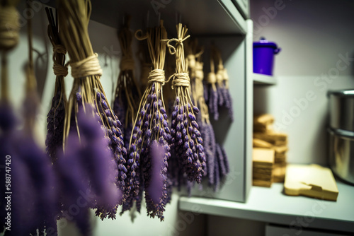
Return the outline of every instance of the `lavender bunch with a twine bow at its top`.
<path id="1" fill-rule="evenodd" d="M 206 163 L 202 136 L 196 121 L 196 114 L 199 110 L 193 105 L 190 98 L 190 78 L 187 73 L 188 68 L 185 66 L 183 41 L 189 35 L 186 36 L 187 28 L 182 27 L 181 23 L 176 28 L 177 39 L 171 39 L 167 43 L 169 52 L 176 57 L 176 73 L 172 76 L 176 99 L 171 116 L 171 146 L 188 179 L 200 183 L 202 175 L 206 171 Z M 173 47 L 171 42 L 176 42 L 176 46 Z"/>

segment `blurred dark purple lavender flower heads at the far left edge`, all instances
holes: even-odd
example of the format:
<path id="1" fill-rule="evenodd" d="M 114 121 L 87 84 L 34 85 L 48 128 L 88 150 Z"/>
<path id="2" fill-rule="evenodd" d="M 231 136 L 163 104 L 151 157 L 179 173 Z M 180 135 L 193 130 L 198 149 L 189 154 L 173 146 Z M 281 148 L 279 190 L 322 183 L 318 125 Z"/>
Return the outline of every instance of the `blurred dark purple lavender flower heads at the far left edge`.
<path id="1" fill-rule="evenodd" d="M 8 102 L 1 101 L 0 117 L 0 155 L 3 157 L 0 165 L 4 167 L 0 172 L 1 179 L 4 180 L 4 184 L 0 187 L 0 196 L 3 199 L 0 201 L 0 223 L 4 228 L 7 227 L 5 235 L 11 232 L 13 235 L 29 235 L 38 228 L 36 192 L 28 168 L 21 156 L 17 155 L 16 141 L 18 141 L 19 132 L 15 131 L 15 126 L 18 122 Z M 9 177 L 10 181 L 8 181 Z M 16 192 L 16 194 L 5 194 L 6 192 Z M 11 224 L 17 225 L 16 227 L 8 227 L 11 224 L 6 224 L 8 200 L 11 201 Z M 28 204 L 28 202 L 33 204 Z M 4 228 L 0 229 L 1 232 Z"/>

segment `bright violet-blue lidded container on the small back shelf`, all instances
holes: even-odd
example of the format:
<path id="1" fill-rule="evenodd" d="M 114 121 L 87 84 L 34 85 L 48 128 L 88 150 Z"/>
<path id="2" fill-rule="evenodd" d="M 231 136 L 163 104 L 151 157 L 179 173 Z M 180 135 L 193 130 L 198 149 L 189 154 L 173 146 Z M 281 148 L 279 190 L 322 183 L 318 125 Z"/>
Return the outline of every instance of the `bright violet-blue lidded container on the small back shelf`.
<path id="1" fill-rule="evenodd" d="M 273 75 L 274 55 L 280 52 L 274 42 L 268 42 L 264 37 L 258 42 L 253 42 L 253 73 Z"/>

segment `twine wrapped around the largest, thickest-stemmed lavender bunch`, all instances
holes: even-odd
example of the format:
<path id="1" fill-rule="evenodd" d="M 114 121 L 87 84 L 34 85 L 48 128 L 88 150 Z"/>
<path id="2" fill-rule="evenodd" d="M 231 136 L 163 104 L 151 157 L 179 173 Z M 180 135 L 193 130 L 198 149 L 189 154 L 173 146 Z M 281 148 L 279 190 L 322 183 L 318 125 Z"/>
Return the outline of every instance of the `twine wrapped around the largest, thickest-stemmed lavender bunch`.
<path id="1" fill-rule="evenodd" d="M 98 61 L 98 54 L 95 53 L 84 60 L 68 62 L 72 66 L 72 77 L 85 78 L 87 76 L 102 76 L 102 69 Z"/>

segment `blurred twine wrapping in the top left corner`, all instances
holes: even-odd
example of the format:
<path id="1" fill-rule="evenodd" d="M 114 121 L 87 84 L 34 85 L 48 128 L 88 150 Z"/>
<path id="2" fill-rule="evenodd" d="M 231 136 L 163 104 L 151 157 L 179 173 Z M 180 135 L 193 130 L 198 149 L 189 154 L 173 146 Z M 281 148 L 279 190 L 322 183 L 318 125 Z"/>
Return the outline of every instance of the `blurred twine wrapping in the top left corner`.
<path id="1" fill-rule="evenodd" d="M 15 6 L 0 8 L 0 48 L 11 49 L 18 43 L 20 24 Z"/>

